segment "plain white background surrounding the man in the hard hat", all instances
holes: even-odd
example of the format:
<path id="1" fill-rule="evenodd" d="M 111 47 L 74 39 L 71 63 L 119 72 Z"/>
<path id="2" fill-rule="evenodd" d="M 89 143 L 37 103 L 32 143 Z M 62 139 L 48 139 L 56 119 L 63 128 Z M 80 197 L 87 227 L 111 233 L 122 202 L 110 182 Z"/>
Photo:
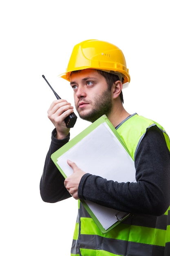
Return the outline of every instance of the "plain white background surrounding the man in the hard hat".
<path id="1" fill-rule="evenodd" d="M 53 124 L 55 96 L 73 105 L 65 72 L 75 44 L 117 45 L 131 76 L 124 107 L 170 134 L 168 0 L 6 0 L 0 4 L 0 233 L 2 256 L 67 256 L 77 216 L 73 198 L 41 200 L 39 183 Z M 90 123 L 77 120 L 71 138 Z"/>

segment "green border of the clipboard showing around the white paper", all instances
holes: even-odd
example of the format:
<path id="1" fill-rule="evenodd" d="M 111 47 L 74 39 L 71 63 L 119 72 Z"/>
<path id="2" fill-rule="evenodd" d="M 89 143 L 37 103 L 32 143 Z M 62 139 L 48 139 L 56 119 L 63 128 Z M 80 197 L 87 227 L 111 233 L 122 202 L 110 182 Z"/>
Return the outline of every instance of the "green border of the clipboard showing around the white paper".
<path id="1" fill-rule="evenodd" d="M 72 148 L 75 144 L 77 144 L 77 142 L 81 141 L 84 137 L 86 137 L 86 135 L 88 135 L 90 132 L 92 132 L 93 130 L 95 130 L 95 128 L 97 128 L 97 126 L 99 126 L 100 124 L 105 123 L 108 124 L 108 126 L 110 127 L 110 129 L 114 132 L 115 136 L 117 137 L 117 139 L 119 139 L 119 141 L 121 142 L 122 146 L 124 146 L 124 148 L 126 149 L 126 151 L 128 152 L 128 154 L 130 155 L 128 148 L 126 147 L 126 144 L 124 143 L 123 139 L 120 137 L 119 133 L 117 132 L 117 130 L 115 129 L 115 127 L 111 124 L 111 122 L 109 121 L 109 119 L 106 117 L 106 115 L 102 115 L 102 117 L 99 117 L 99 119 L 97 119 L 96 121 L 93 122 L 93 124 L 91 124 L 90 126 L 88 126 L 85 130 L 83 130 L 82 132 L 80 132 L 77 136 L 75 136 L 73 139 L 71 139 L 70 141 L 68 141 L 64 146 L 62 146 L 61 148 L 59 148 L 57 151 L 55 151 L 52 155 L 51 155 L 51 159 L 54 162 L 54 164 L 57 166 L 58 170 L 60 171 L 60 173 L 63 175 L 64 178 L 66 178 L 66 174 L 64 173 L 64 171 L 60 168 L 60 166 L 57 164 L 57 158 L 60 157 L 60 155 L 63 155 L 66 151 L 68 151 L 70 148 Z M 88 205 L 86 204 L 86 202 L 84 200 L 80 200 L 84 206 L 84 208 L 86 209 L 86 211 L 88 211 L 89 215 L 91 216 L 91 218 L 93 218 L 94 222 L 96 223 L 96 225 L 99 227 L 99 229 L 101 230 L 101 232 L 103 234 L 106 234 L 108 231 L 110 231 L 111 229 L 113 229 L 115 226 L 117 226 L 120 222 L 122 222 L 123 220 L 125 220 L 126 218 L 128 218 L 128 216 L 131 215 L 131 213 L 125 213 L 125 216 L 119 221 L 117 220 L 117 222 L 115 224 L 113 224 L 111 227 L 109 227 L 108 229 L 104 229 L 104 227 L 102 226 L 102 224 L 99 222 L 99 220 L 96 218 L 96 216 L 94 215 L 94 213 L 91 211 L 91 209 L 88 207 Z"/>

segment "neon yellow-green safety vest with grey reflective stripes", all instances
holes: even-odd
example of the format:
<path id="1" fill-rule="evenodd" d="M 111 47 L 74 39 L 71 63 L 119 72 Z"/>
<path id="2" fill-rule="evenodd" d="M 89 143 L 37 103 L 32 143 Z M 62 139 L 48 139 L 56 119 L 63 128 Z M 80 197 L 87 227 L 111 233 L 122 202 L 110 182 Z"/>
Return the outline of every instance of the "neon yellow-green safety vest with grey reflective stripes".
<path id="1" fill-rule="evenodd" d="M 135 159 L 146 131 L 157 125 L 170 140 L 162 126 L 137 114 L 124 120 L 117 131 Z M 170 207 L 162 216 L 135 214 L 103 234 L 78 201 L 78 215 L 71 256 L 170 256 Z"/>

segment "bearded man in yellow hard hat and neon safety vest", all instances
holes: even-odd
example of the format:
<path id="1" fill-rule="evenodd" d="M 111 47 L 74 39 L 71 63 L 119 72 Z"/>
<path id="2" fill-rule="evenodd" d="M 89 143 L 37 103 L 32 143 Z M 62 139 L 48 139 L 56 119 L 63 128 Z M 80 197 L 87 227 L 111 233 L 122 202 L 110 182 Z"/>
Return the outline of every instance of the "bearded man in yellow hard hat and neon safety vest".
<path id="1" fill-rule="evenodd" d="M 58 202 L 73 196 L 133 213 L 102 234 L 79 201 L 71 255 L 169 256 L 170 140 L 162 126 L 124 109 L 122 86 L 130 76 L 123 53 L 110 43 L 86 40 L 75 45 L 61 77 L 70 81 L 79 117 L 93 122 L 107 115 L 135 161 L 137 180 L 106 180 L 85 173 L 70 160 L 73 174 L 64 180 L 50 156 L 69 140 L 64 119 L 73 107 L 63 99 L 53 101 L 48 117 L 55 129 L 40 182 L 42 199 Z"/>

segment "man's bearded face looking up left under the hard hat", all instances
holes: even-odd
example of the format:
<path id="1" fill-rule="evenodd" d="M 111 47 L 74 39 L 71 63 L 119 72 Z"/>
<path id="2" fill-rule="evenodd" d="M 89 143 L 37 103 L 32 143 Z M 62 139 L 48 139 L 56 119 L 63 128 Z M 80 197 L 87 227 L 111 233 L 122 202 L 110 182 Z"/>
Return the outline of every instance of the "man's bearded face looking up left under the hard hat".
<path id="1" fill-rule="evenodd" d="M 112 108 L 112 92 L 104 76 L 97 70 L 86 69 L 71 75 L 75 108 L 79 117 L 94 122 L 102 115 L 108 115 Z"/>

